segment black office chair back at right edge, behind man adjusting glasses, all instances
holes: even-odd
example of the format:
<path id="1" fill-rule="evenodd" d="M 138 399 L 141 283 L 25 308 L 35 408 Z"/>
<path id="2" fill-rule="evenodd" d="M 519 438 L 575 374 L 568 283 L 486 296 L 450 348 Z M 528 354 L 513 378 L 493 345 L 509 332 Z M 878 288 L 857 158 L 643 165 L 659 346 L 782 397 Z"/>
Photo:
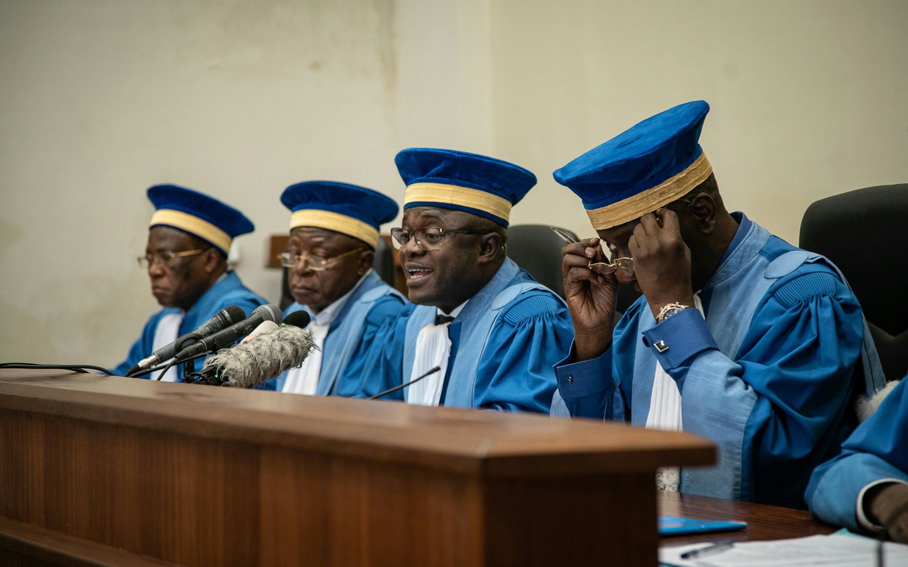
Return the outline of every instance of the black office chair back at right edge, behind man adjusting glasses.
<path id="1" fill-rule="evenodd" d="M 803 249 L 842 270 L 864 308 L 887 380 L 908 371 L 908 183 L 814 202 L 801 221 Z"/>

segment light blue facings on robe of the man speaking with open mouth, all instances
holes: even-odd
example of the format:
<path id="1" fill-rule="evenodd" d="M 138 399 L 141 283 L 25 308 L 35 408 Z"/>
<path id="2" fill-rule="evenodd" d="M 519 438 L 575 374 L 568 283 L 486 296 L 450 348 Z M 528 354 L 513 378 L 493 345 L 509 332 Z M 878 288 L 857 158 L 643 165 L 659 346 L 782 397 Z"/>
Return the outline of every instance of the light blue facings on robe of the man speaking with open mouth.
<path id="1" fill-rule="evenodd" d="M 448 389 L 444 405 L 448 407 L 475 407 L 476 374 L 479 360 L 489 342 L 489 335 L 502 310 L 519 295 L 533 289 L 548 291 L 553 298 L 558 298 L 567 308 L 563 299 L 550 289 L 535 281 L 518 277 L 520 269 L 512 259 L 505 259 L 495 276 L 489 280 L 479 293 L 469 299 L 460 311 L 455 322 L 462 321 L 460 341 L 451 375 L 447 376 Z M 416 339 L 423 327 L 435 321 L 436 308 L 420 305 L 413 309 L 407 322 L 406 338 L 403 352 L 403 382 L 409 382 L 416 359 Z M 469 354 L 468 354 L 469 353 Z M 407 399 L 409 388 L 404 388 L 404 399 Z"/>

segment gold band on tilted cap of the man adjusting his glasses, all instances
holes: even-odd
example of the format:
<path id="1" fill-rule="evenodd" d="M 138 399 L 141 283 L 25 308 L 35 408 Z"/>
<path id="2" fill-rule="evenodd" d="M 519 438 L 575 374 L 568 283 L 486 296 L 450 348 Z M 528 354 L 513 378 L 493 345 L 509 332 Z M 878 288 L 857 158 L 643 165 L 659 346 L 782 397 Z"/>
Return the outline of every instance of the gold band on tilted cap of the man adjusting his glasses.
<path id="1" fill-rule="evenodd" d="M 629 220 L 639 219 L 647 212 L 653 212 L 673 200 L 684 197 L 697 185 L 706 181 L 712 172 L 713 166 L 706 160 L 706 152 L 702 152 L 685 171 L 662 181 L 656 187 L 631 195 L 617 203 L 587 210 L 587 215 L 594 229 L 610 229 Z"/>

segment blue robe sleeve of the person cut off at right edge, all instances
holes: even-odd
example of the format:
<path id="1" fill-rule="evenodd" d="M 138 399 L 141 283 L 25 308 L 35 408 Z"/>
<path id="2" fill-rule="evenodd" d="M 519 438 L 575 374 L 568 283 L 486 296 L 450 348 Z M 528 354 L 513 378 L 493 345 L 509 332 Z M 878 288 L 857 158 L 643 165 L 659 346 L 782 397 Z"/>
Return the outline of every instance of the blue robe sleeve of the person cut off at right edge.
<path id="1" fill-rule="evenodd" d="M 861 531 L 858 496 L 883 479 L 908 484 L 908 380 L 842 444 L 842 454 L 816 467 L 804 498 L 824 522 Z"/>

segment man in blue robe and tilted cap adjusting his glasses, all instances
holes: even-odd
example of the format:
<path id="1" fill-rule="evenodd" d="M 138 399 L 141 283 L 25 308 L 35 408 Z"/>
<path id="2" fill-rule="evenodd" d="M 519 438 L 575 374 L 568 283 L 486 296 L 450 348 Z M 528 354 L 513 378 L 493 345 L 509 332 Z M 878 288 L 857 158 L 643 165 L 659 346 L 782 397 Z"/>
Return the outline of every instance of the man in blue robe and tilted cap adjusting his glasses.
<path id="1" fill-rule="evenodd" d="M 661 488 L 803 508 L 882 371 L 839 270 L 725 210 L 708 110 L 676 106 L 555 171 L 601 240 L 564 250 L 577 338 L 552 414 L 704 436 L 717 464 L 660 470 Z M 609 333 L 618 280 L 644 295 Z"/>

